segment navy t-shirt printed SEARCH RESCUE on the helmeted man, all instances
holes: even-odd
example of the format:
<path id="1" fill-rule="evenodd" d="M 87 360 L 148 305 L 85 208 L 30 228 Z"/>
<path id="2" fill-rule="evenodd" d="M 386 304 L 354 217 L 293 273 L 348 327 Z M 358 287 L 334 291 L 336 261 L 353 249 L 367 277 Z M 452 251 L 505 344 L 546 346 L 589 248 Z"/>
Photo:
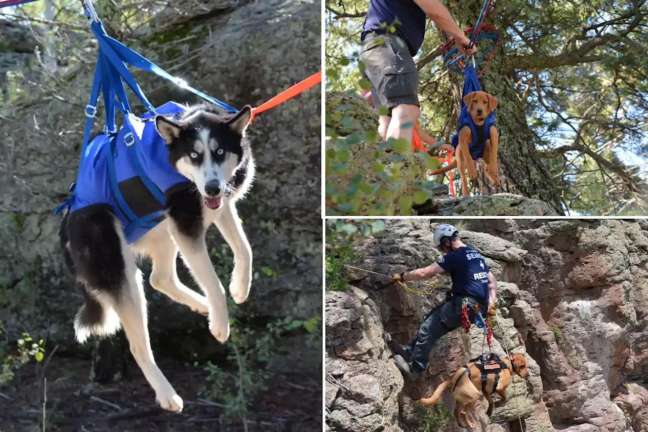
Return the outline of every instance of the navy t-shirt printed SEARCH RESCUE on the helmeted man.
<path id="1" fill-rule="evenodd" d="M 470 246 L 461 246 L 437 261 L 450 273 L 452 293 L 485 298 L 488 302 L 489 268 L 483 256 Z"/>

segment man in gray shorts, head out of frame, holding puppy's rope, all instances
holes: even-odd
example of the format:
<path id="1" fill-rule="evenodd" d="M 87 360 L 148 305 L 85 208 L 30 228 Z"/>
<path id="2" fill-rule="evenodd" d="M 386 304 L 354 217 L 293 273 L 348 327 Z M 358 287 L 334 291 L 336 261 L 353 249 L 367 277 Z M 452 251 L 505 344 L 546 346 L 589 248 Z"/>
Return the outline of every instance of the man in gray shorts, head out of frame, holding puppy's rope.
<path id="1" fill-rule="evenodd" d="M 369 0 L 360 41 L 360 73 L 371 82 L 373 102 L 389 110 L 380 115 L 383 139 L 407 139 L 419 121 L 419 73 L 413 57 L 425 36 L 426 18 L 454 36 L 463 54 L 475 53 L 469 38 L 439 0 Z M 409 147 L 408 147 L 409 148 Z"/>

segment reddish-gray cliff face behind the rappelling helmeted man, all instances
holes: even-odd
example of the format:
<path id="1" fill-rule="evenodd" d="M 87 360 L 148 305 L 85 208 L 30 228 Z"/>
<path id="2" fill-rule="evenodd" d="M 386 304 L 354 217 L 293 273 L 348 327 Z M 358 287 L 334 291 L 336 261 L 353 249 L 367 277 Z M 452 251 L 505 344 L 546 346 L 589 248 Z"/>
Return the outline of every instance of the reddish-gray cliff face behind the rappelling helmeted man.
<path id="1" fill-rule="evenodd" d="M 441 255 L 432 246 L 437 222 L 388 221 L 380 237 L 356 239 L 362 258 L 352 265 L 382 274 L 429 265 Z M 492 350 L 524 355 L 531 372 L 526 381 L 516 376 L 490 424 L 487 402 L 478 403 L 474 430 L 520 431 L 521 423 L 526 432 L 648 431 L 648 222 L 473 219 L 456 225 L 498 278 Z M 445 335 L 423 378 L 404 383 L 386 348 L 388 333 L 410 341 L 443 293 L 411 293 L 360 270 L 348 276 L 347 291 L 326 294 L 328 430 L 465 430 L 417 400 L 481 353 L 483 332 L 473 326 L 468 334 Z M 447 276 L 438 282 L 450 286 Z M 372 396 L 363 409 L 355 405 L 354 385 L 375 386 L 364 393 Z M 448 390 L 441 405 L 454 409 Z"/>

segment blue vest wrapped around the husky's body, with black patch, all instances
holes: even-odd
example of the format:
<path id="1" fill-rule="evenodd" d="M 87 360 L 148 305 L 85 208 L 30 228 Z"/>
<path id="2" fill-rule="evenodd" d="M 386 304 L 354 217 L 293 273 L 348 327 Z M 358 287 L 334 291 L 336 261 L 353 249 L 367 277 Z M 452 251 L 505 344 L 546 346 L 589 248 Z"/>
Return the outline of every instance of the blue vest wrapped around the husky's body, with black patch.
<path id="1" fill-rule="evenodd" d="M 176 102 L 156 108 L 163 115 L 184 110 Z M 73 196 L 56 212 L 104 207 L 115 213 L 126 241 L 133 243 L 161 221 L 168 195 L 191 182 L 168 163 L 167 146 L 150 112 L 130 114 L 125 123 L 129 126 L 116 135 L 99 135 L 87 145 Z"/>

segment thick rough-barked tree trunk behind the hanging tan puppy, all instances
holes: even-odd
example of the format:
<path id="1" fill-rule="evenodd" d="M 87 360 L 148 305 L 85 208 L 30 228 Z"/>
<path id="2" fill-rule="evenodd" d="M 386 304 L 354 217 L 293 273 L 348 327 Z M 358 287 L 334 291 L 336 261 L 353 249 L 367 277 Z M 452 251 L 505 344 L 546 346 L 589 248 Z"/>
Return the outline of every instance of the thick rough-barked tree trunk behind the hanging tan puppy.
<path id="1" fill-rule="evenodd" d="M 448 4 L 448 10 L 450 10 L 457 23 L 467 29 L 477 21 L 482 6 L 483 2 L 481 0 L 466 0 L 461 3 L 452 1 Z M 485 23 L 498 27 L 498 23 L 492 22 L 492 18 L 487 19 Z M 481 90 L 491 93 L 498 100 L 496 127 L 500 134 L 498 165 L 502 186 L 495 187 L 487 180 L 483 173 L 483 161 L 480 160 L 477 163 L 478 176 L 476 181 L 478 189 L 484 195 L 510 192 L 528 198 L 536 198 L 546 202 L 562 215 L 564 210 L 561 200 L 557 190 L 553 187 L 549 172 L 542 165 L 540 156 L 538 156 L 533 132 L 527 125 L 524 112 L 520 109 L 520 100 L 515 88 L 513 88 L 511 78 L 509 78 L 510 71 L 506 69 L 503 62 L 503 44 L 501 43 L 503 36 L 505 34 L 501 30 L 500 46 L 496 50 L 487 71 L 480 78 Z M 447 38 L 447 34 L 442 35 L 442 39 L 447 40 Z M 487 56 L 482 60 L 481 65 L 476 68 L 477 73 L 480 72 L 480 66 L 483 67 L 486 61 Z M 450 72 L 449 79 L 458 107 L 461 104 L 463 75 Z"/>

